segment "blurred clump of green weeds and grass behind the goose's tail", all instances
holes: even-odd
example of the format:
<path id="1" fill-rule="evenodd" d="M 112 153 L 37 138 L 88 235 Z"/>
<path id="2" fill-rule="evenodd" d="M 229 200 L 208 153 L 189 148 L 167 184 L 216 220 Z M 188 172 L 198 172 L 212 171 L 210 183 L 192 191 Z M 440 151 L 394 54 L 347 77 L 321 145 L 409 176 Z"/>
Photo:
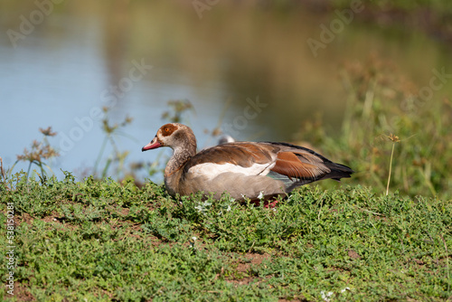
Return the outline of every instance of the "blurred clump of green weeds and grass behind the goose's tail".
<path id="1" fill-rule="evenodd" d="M 419 99 L 422 88 L 378 56 L 345 63 L 341 74 L 348 91 L 342 130 L 335 134 L 318 117 L 307 121 L 296 137 L 353 167 L 356 174 L 344 180 L 347 184 L 384 192 L 392 158 L 391 191 L 451 198 L 451 100 L 438 91 Z M 393 145 L 391 135 L 400 142 Z"/>

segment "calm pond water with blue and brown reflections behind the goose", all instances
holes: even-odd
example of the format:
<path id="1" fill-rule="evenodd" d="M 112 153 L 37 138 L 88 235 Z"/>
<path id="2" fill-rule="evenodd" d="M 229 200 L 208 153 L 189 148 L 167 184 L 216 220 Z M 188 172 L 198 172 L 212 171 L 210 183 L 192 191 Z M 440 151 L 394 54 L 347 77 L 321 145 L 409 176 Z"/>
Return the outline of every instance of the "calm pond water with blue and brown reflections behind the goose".
<path id="1" fill-rule="evenodd" d="M 219 4 L 201 19 L 188 2 L 61 1 L 49 15 L 34 2 L 0 8 L 6 33 L 0 40 L 0 156 L 5 167 L 13 165 L 41 138 L 38 128 L 52 126 L 59 135 L 51 143 L 62 154 L 52 163 L 57 175 L 61 169 L 81 175 L 94 165 L 104 135 L 91 115 L 105 106 L 112 121 L 134 118 L 118 148 L 130 151 L 131 161 L 152 162 L 157 152 L 141 153 L 141 146 L 166 122 L 170 99 L 193 103 L 195 113 L 185 121 L 200 146 L 215 143 L 204 129 L 216 127 L 222 114 L 223 130 L 237 139 L 287 141 L 316 113 L 327 126 L 340 127 L 344 61 L 379 53 L 419 85 L 428 83 L 432 68 L 452 70 L 441 42 L 359 21 L 344 26 L 315 57 L 306 41 L 319 40 L 319 25 L 334 14 L 303 8 Z M 12 42 L 8 30 L 22 33 L 24 18 L 34 20 L 33 30 Z M 442 93 L 450 89 L 447 83 Z"/>

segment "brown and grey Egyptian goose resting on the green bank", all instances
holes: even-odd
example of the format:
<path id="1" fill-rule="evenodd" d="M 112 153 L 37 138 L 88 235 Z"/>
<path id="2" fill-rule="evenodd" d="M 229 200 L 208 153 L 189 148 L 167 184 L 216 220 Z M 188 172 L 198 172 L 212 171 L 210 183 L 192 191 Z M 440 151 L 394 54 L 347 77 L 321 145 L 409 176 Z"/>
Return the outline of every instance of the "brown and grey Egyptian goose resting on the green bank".
<path id="1" fill-rule="evenodd" d="M 350 177 L 353 170 L 335 164 L 303 146 L 271 142 L 233 142 L 196 153 L 190 127 L 166 124 L 142 151 L 169 146 L 174 150 L 165 168 L 171 195 L 203 192 L 220 199 L 222 193 L 243 200 L 268 200 L 286 195 L 302 184 Z"/>

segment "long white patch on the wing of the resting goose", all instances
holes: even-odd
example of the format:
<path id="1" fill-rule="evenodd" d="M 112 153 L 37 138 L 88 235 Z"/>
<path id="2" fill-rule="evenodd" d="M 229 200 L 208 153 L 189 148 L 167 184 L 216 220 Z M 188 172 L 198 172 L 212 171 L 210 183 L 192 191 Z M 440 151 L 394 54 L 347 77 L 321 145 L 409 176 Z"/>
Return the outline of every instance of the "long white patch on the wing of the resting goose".
<path id="1" fill-rule="evenodd" d="M 226 164 L 213 164 L 213 163 L 203 163 L 200 165 L 193 165 L 188 169 L 188 174 L 197 176 L 206 176 L 210 179 L 221 175 L 225 172 L 240 173 L 242 175 L 268 175 L 270 169 L 276 165 L 276 163 L 268 164 L 254 164 L 249 167 L 234 165 L 230 163 Z"/>

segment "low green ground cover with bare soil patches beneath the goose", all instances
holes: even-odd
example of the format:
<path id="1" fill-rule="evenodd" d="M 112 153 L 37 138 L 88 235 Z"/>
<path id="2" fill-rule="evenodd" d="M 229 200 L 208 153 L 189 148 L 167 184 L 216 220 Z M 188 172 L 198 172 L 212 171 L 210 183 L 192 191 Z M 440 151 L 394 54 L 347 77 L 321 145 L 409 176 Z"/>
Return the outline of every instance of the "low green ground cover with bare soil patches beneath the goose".
<path id="1" fill-rule="evenodd" d="M 2 225 L 14 204 L 15 300 L 452 297 L 447 200 L 305 186 L 274 211 L 71 174 L 14 175 L 0 193 Z M 5 284 L 5 265 L 0 274 Z"/>

